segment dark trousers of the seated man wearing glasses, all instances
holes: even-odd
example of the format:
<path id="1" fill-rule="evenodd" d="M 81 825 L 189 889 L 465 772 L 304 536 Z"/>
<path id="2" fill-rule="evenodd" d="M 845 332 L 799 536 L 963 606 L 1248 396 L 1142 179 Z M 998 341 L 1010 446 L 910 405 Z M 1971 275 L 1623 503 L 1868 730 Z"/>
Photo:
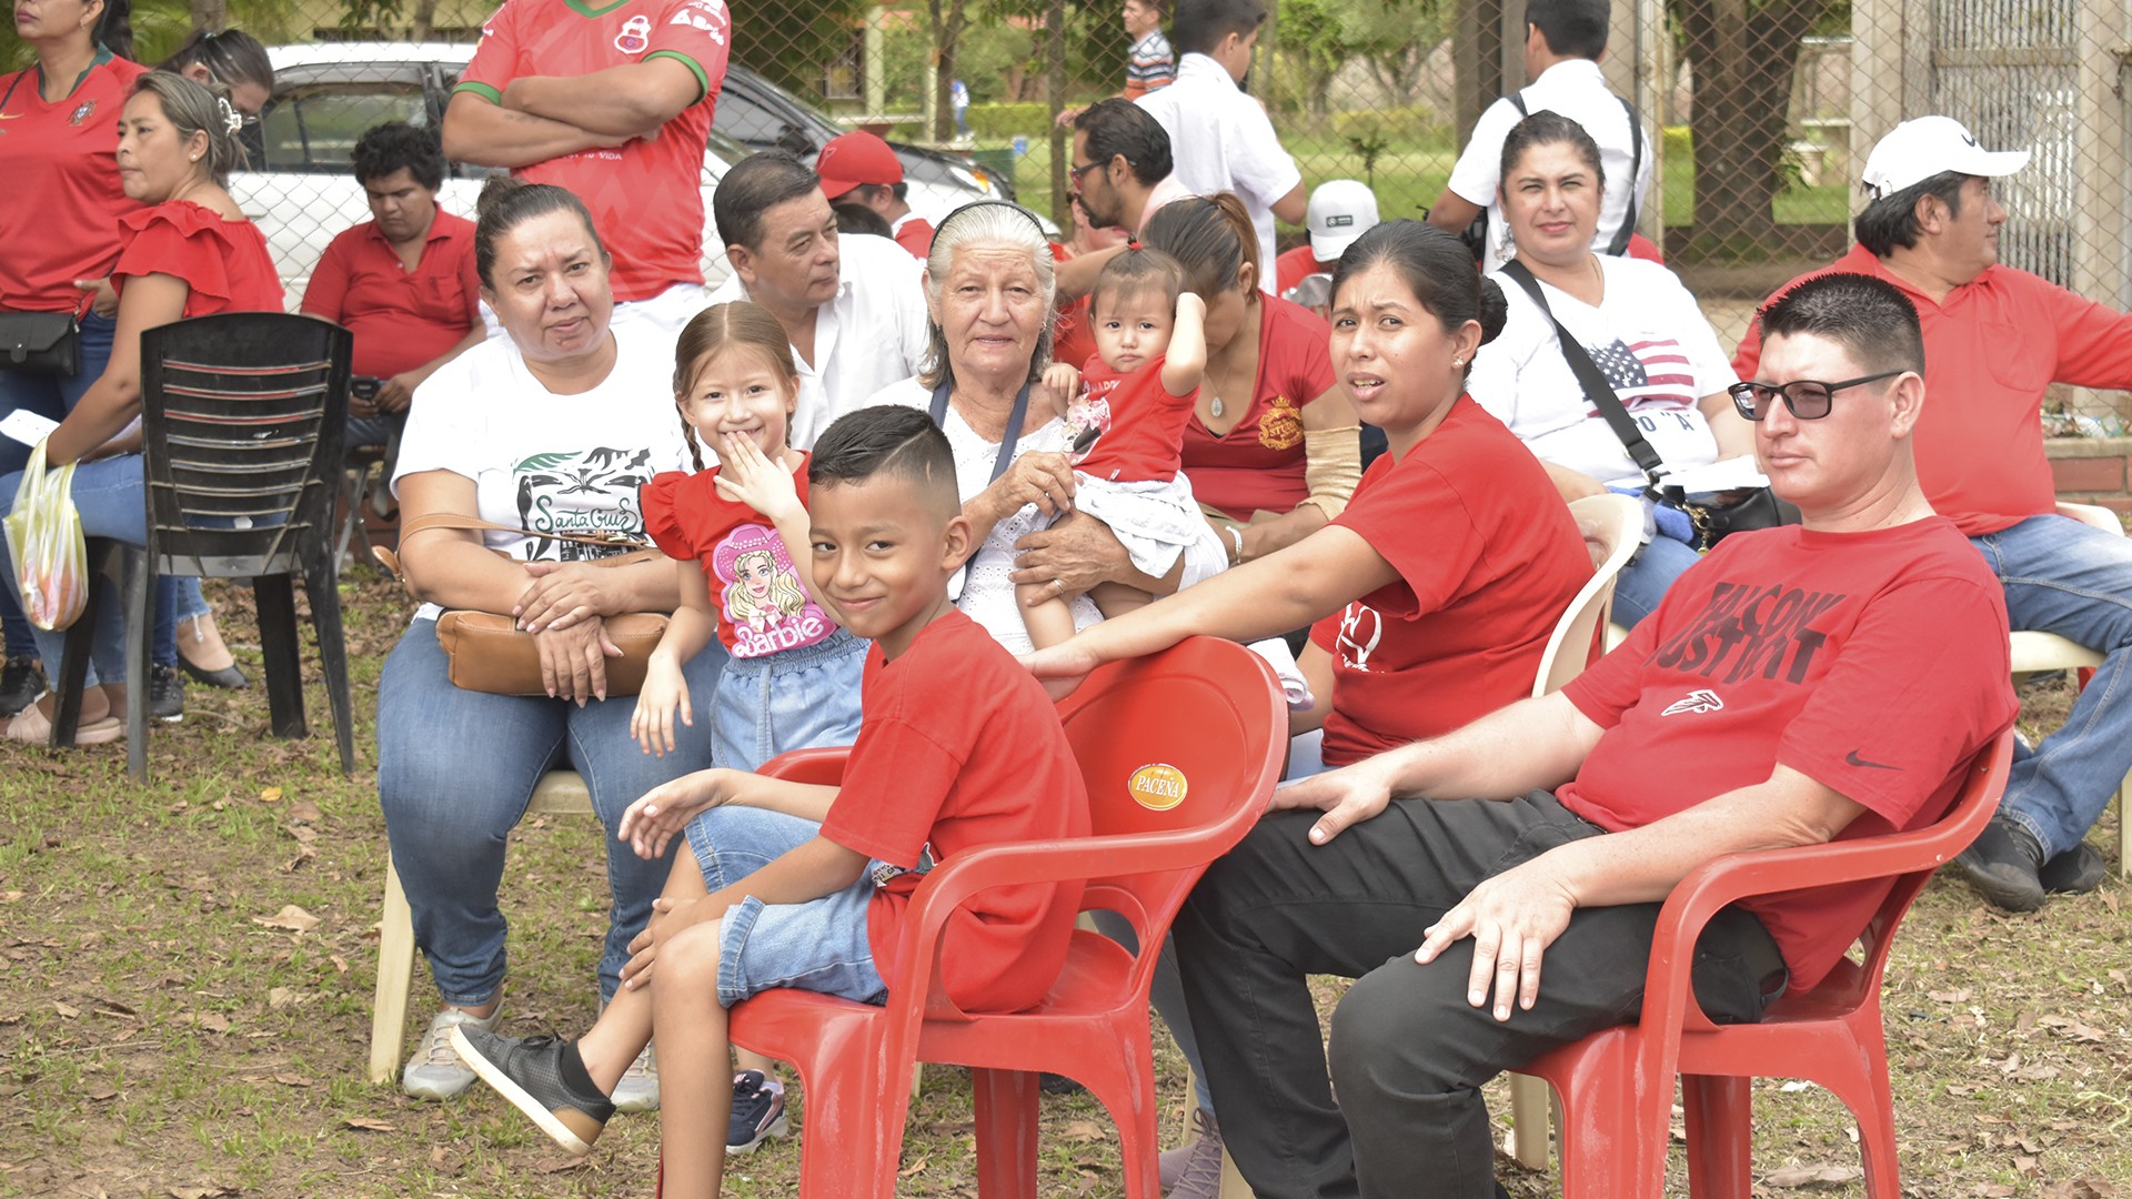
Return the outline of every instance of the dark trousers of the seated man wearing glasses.
<path id="1" fill-rule="evenodd" d="M 1309 843 L 1313 821 L 1269 815 L 1175 924 L 1222 1139 L 1260 1199 L 1488 1199 L 1480 1086 L 1637 1018 L 1659 905 L 1580 909 L 1548 947 L 1539 1001 L 1499 1024 L 1467 1005 L 1473 941 L 1420 966 L 1422 930 L 1482 879 L 1603 830 L 1548 792 L 1394 800 L 1330 845 Z M 1360 979 L 1332 1016 L 1330 1052 L 1307 975 Z M 1759 1020 L 1782 977 L 1753 915 L 1727 909 L 1703 930 L 1695 994 L 1712 1020 Z"/>

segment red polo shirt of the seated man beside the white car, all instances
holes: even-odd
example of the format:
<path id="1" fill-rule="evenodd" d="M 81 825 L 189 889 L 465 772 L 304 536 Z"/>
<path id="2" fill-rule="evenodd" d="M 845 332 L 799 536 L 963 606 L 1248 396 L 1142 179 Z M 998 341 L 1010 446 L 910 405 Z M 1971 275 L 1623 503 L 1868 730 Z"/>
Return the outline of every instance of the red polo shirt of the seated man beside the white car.
<path id="1" fill-rule="evenodd" d="M 473 222 L 437 209 L 414 271 L 367 220 L 341 230 L 311 271 L 303 311 L 356 335 L 358 375 L 388 380 L 429 365 L 482 322 Z"/>

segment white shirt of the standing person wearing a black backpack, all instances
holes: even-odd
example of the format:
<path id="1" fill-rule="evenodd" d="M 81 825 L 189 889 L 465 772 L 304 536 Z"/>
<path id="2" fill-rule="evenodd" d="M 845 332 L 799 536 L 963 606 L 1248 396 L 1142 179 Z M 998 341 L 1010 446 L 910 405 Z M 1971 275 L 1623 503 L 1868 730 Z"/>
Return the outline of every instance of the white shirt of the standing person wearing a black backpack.
<path id="1" fill-rule="evenodd" d="M 1614 233 L 1620 230 L 1622 218 L 1629 213 L 1629 162 L 1633 160 L 1629 111 L 1608 90 L 1599 64 L 1588 58 L 1556 62 L 1541 70 L 1539 79 L 1533 79 L 1520 96 L 1524 96 L 1527 113 L 1541 109 L 1563 113 L 1584 126 L 1584 132 L 1593 134 L 1593 141 L 1599 143 L 1599 166 L 1605 169 L 1605 201 L 1599 205 L 1599 228 L 1593 233 L 1593 250 L 1605 254 L 1614 245 Z M 1503 203 L 1495 192 L 1503 181 L 1503 139 L 1509 137 L 1509 126 L 1522 119 L 1518 107 L 1507 98 L 1488 105 L 1488 111 L 1473 126 L 1473 141 L 1467 143 L 1465 151 L 1458 154 L 1458 164 L 1452 166 L 1450 190 L 1469 205 L 1488 209 L 1488 256 L 1482 262 L 1488 271 L 1509 262 L 1516 254 L 1509 245 L 1509 224 L 1503 222 Z M 1652 147 L 1650 132 L 1646 130 L 1644 162 L 1635 173 L 1637 211 L 1644 209 L 1644 196 L 1650 194 L 1650 162 Z"/>

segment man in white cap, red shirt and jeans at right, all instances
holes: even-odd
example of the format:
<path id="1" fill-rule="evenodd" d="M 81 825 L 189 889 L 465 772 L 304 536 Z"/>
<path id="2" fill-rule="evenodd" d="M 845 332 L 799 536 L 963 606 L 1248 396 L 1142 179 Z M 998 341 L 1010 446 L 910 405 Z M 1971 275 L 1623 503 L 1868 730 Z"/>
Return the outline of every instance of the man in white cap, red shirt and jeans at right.
<path id="1" fill-rule="evenodd" d="M 2132 540 L 2057 514 L 2040 418 L 2053 382 L 2132 388 L 2132 316 L 1998 262 L 2006 209 L 1991 179 L 2028 158 L 1983 149 L 1949 117 L 1895 126 L 1866 160 L 1859 243 L 1827 267 L 1887 279 L 1917 305 L 1932 380 L 1919 480 L 2000 578 L 2013 627 L 2104 653 L 2064 728 L 2021 751 L 1998 819 L 1959 858 L 2010 911 L 2102 883 L 2083 838 L 2132 770 L 2132 700 L 2117 685 L 2132 661 Z M 1759 361 L 1750 326 L 1733 369 L 1755 378 Z"/>

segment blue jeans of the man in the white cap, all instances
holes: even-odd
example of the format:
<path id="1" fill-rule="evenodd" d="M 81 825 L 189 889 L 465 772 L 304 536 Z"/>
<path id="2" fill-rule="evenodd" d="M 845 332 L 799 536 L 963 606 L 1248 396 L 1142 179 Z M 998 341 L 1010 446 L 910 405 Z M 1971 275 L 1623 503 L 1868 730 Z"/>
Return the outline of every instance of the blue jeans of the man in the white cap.
<path id="1" fill-rule="evenodd" d="M 2000 815 L 2036 836 L 2045 858 L 2072 849 L 2132 768 L 2132 540 L 2066 516 L 2030 516 L 1970 538 L 2006 587 L 2015 629 L 2057 634 L 2100 651 L 2102 666 L 2066 723 L 2013 764 Z"/>

